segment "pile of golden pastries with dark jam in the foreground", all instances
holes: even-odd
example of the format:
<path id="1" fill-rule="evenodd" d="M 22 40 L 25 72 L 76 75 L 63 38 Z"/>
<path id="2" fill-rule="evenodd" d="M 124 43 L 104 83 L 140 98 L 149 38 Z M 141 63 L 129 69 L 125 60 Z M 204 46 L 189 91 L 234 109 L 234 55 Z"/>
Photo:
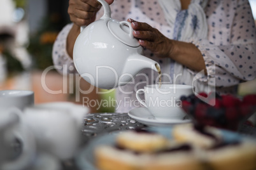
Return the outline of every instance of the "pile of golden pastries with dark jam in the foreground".
<path id="1" fill-rule="evenodd" d="M 206 128 L 220 140 L 220 131 Z M 115 145 L 99 146 L 94 154 L 101 170 L 254 170 L 256 143 L 225 143 L 194 130 L 192 125 L 173 128 L 174 140 L 161 134 L 125 131 Z"/>

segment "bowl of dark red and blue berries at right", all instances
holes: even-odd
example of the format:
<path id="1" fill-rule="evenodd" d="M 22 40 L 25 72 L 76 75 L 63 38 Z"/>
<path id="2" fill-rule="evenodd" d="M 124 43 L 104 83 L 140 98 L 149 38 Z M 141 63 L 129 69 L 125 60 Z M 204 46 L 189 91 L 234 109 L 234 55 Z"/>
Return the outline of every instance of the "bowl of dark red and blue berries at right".
<path id="1" fill-rule="evenodd" d="M 241 122 L 256 112 L 256 94 L 239 98 L 217 93 L 181 96 L 182 108 L 201 125 L 236 131 Z"/>

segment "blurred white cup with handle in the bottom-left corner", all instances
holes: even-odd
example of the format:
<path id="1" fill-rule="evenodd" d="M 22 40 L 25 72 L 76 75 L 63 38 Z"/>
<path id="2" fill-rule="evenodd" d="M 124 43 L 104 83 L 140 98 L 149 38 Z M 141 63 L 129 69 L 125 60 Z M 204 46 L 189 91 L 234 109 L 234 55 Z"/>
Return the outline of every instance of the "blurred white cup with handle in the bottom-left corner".
<path id="1" fill-rule="evenodd" d="M 36 142 L 30 129 L 24 124 L 18 108 L 0 107 L 0 169 L 27 169 L 36 155 Z M 7 153 L 12 153 L 10 143 L 16 140 L 22 143 L 17 159 L 9 160 Z"/>

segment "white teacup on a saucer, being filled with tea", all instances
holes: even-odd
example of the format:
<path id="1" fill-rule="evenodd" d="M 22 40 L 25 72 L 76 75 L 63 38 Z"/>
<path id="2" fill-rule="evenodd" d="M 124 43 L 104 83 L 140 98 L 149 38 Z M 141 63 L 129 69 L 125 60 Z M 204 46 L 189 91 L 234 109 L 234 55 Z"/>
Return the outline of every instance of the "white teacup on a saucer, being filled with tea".
<path id="1" fill-rule="evenodd" d="M 140 94 L 143 93 L 145 100 L 141 100 Z M 183 119 L 185 112 L 181 108 L 180 97 L 191 95 L 193 87 L 183 84 L 151 84 L 138 89 L 136 98 L 141 105 L 148 108 L 155 119 Z"/>

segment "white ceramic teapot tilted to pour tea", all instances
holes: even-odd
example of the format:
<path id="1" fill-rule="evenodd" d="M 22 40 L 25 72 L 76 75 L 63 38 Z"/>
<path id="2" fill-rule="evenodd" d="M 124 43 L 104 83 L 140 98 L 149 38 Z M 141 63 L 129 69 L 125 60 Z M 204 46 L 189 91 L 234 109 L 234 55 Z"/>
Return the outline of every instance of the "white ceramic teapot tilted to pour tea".
<path id="1" fill-rule="evenodd" d="M 109 4 L 98 1 L 104 15 L 81 28 L 73 49 L 75 67 L 83 79 L 98 88 L 111 89 L 124 86 L 140 70 L 158 71 L 157 62 L 141 55 L 143 48 L 132 35 L 131 23 L 113 20 Z"/>

